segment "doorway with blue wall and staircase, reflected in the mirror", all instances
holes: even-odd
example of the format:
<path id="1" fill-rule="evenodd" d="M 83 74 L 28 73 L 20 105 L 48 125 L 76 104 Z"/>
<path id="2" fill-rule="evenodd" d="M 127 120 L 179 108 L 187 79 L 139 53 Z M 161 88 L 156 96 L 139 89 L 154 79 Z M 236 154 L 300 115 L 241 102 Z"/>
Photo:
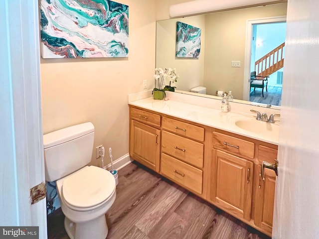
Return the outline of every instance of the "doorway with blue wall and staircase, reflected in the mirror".
<path id="1" fill-rule="evenodd" d="M 281 105 L 284 68 L 278 67 L 280 64 L 277 64 L 276 59 L 281 59 L 281 57 L 284 59 L 285 48 L 282 44 L 285 43 L 285 39 L 286 16 L 247 20 L 244 100 L 272 106 Z M 267 57 L 268 53 L 272 54 Z M 260 60 L 260 64 L 258 63 L 259 65 L 256 66 L 258 60 Z M 273 67 L 274 63 L 276 63 L 275 67 Z M 281 64 L 283 65 L 283 60 Z M 269 68 L 270 66 L 271 68 Z M 267 72 L 266 68 L 268 68 Z M 258 82 L 262 82 L 260 79 L 267 80 L 264 81 L 264 89 L 251 87 L 251 72 L 254 71 L 256 71 L 256 75 L 263 76 L 258 77 Z"/>

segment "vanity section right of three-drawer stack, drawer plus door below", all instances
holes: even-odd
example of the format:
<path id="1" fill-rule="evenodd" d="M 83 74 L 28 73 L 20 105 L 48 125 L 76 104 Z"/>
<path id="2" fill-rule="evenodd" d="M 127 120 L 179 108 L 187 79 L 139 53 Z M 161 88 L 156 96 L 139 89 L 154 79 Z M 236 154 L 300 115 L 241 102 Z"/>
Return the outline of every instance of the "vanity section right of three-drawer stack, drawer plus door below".
<path id="1" fill-rule="evenodd" d="M 210 200 L 232 215 L 250 221 L 254 163 L 234 154 L 254 157 L 254 143 L 213 132 L 213 147 Z"/>

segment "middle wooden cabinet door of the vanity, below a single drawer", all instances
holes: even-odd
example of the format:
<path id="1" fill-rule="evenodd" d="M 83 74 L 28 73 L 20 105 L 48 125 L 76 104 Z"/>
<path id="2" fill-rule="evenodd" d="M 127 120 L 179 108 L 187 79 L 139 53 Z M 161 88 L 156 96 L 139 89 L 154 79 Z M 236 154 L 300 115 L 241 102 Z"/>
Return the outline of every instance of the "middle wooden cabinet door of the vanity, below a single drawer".
<path id="1" fill-rule="evenodd" d="M 211 200 L 239 218 L 250 220 L 253 162 L 214 149 Z"/>

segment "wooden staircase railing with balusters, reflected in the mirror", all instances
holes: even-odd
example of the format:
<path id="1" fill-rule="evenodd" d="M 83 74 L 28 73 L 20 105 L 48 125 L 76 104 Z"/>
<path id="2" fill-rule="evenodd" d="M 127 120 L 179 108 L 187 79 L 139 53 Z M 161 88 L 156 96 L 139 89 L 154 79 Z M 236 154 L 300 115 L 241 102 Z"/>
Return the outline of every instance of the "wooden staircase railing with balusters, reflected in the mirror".
<path id="1" fill-rule="evenodd" d="M 285 42 L 255 62 L 256 75 L 269 76 L 284 67 Z"/>

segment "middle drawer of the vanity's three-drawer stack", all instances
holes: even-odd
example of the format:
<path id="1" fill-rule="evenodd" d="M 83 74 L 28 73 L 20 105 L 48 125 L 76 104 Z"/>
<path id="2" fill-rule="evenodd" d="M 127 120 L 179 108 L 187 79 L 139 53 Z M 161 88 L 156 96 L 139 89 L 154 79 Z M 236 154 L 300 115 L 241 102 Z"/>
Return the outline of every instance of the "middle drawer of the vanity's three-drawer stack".
<path id="1" fill-rule="evenodd" d="M 161 151 L 196 167 L 203 167 L 204 145 L 202 143 L 162 131 Z"/>

